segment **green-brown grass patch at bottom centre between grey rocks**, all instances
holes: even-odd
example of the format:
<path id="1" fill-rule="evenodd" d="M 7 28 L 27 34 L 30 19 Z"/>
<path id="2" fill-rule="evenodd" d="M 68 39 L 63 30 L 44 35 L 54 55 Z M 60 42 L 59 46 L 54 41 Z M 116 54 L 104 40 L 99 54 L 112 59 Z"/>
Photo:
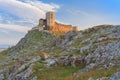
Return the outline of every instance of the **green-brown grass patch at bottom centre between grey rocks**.
<path id="1" fill-rule="evenodd" d="M 39 67 L 40 65 L 41 67 Z M 33 76 L 36 75 L 38 80 L 73 80 L 73 74 L 82 67 L 51 67 L 42 68 L 41 64 L 34 66 Z"/>

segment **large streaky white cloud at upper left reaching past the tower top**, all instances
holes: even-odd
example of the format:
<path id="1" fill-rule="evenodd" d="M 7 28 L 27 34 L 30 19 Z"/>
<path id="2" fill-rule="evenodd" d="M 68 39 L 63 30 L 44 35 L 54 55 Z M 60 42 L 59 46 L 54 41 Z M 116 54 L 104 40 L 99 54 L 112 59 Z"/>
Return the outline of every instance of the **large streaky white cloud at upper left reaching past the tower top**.
<path id="1" fill-rule="evenodd" d="M 60 8 L 57 4 L 47 4 L 36 0 L 26 0 L 25 2 L 19 0 L 0 0 L 0 9 L 8 15 L 19 18 L 20 20 L 12 20 L 9 23 L 18 24 L 21 20 L 27 22 L 27 24 L 38 24 L 40 18 L 45 17 L 45 12 L 55 11 Z M 2 13 L 0 13 L 2 14 Z M 4 13 L 3 13 L 4 16 Z M 11 16 L 10 16 L 11 17 Z M 6 17 L 6 19 L 8 16 Z M 14 21 L 14 22 L 13 22 Z M 24 25 L 27 25 L 24 24 Z M 32 26 L 33 26 L 32 25 Z"/>

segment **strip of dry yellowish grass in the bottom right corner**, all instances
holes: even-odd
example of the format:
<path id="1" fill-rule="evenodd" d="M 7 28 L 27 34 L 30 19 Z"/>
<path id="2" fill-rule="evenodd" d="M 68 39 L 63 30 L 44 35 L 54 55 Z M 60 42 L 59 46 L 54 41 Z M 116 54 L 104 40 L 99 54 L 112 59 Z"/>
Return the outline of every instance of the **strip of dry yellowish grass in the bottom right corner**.
<path id="1" fill-rule="evenodd" d="M 104 70 L 103 69 L 99 70 L 98 68 L 91 69 L 88 72 L 79 74 L 79 76 L 76 80 L 88 80 L 88 78 L 90 78 L 90 77 L 92 77 L 94 79 L 101 78 L 101 77 L 110 77 L 116 71 L 120 71 L 120 66 L 116 66 L 116 67 L 113 67 L 110 69 L 104 69 Z"/>

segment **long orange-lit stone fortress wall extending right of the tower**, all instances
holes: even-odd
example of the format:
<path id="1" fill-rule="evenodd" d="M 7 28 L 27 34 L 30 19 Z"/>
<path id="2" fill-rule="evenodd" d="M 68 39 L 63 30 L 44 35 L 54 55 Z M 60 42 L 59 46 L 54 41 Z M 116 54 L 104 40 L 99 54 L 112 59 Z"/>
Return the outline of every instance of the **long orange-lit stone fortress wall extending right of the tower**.
<path id="1" fill-rule="evenodd" d="M 61 23 L 55 22 L 54 25 L 51 26 L 50 31 L 52 32 L 68 32 L 72 30 L 72 25 L 65 25 Z"/>

